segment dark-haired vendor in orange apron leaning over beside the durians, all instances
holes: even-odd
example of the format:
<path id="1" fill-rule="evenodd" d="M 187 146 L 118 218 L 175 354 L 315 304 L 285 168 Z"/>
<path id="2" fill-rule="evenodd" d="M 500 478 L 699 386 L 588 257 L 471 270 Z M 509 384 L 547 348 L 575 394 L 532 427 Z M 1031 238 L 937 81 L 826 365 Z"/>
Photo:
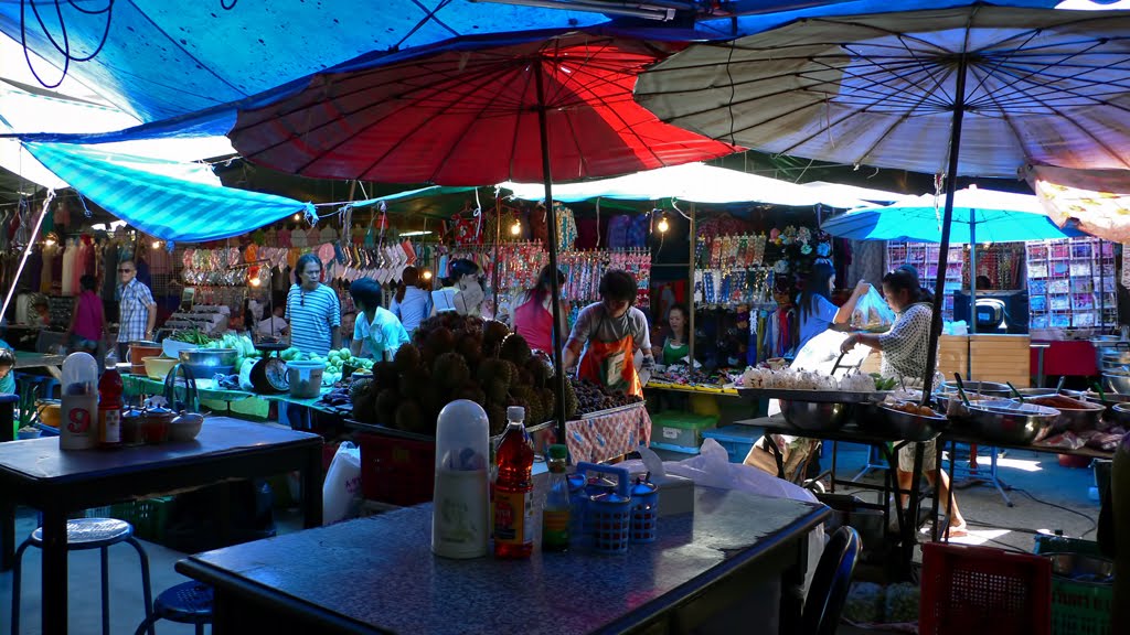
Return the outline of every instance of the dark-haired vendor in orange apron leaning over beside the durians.
<path id="1" fill-rule="evenodd" d="M 643 397 L 634 356 L 643 354 L 643 367 L 654 365 L 647 318 L 632 306 L 636 281 L 627 271 L 610 270 L 600 279 L 601 301 L 581 311 L 565 345 L 564 366 L 581 360 L 579 375 L 610 390 Z M 583 350 L 582 350 L 583 349 Z"/>

